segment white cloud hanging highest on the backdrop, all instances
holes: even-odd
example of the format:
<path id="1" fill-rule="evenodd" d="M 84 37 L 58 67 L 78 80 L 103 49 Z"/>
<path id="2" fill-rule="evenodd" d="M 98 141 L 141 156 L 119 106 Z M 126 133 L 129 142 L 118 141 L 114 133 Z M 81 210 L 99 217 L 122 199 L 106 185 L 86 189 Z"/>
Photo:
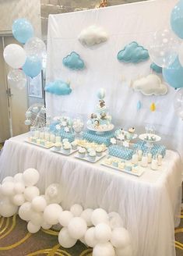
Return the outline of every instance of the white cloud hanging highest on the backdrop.
<path id="1" fill-rule="evenodd" d="M 90 26 L 79 34 L 79 42 L 85 46 L 92 46 L 107 41 L 108 35 L 102 27 Z"/>

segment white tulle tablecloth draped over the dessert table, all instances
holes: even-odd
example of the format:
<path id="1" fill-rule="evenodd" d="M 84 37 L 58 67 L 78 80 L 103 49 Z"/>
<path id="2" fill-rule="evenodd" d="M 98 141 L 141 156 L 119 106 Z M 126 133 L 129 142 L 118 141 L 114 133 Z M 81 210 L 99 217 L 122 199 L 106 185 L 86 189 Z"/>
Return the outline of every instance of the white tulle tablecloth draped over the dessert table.
<path id="1" fill-rule="evenodd" d="M 167 151 L 158 171 L 146 169 L 143 176 L 79 159 L 55 154 L 23 142 L 26 135 L 5 142 L 0 157 L 0 181 L 27 168 L 40 172 L 38 187 L 44 193 L 59 182 L 64 189 L 64 208 L 74 203 L 84 208 L 119 212 L 125 228 L 132 233 L 135 256 L 174 256 L 174 225 L 181 205 L 181 160 Z"/>

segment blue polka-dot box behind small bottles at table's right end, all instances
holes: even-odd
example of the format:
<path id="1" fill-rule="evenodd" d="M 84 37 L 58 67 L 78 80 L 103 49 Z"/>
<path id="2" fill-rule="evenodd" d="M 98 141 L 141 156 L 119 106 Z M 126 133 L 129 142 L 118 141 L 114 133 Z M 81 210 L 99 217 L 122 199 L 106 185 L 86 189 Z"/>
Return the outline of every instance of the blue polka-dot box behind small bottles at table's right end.
<path id="1" fill-rule="evenodd" d="M 141 149 L 145 153 L 147 151 L 150 151 L 153 156 L 157 155 L 157 154 L 160 154 L 164 157 L 165 154 L 166 154 L 166 148 L 164 147 L 164 145 L 160 145 L 160 144 L 155 143 L 155 144 L 153 144 L 153 148 L 148 148 L 146 146 L 146 141 L 142 141 L 142 140 L 137 141 L 137 143 L 134 144 L 134 148 L 135 149 L 137 149 L 137 148 Z"/>

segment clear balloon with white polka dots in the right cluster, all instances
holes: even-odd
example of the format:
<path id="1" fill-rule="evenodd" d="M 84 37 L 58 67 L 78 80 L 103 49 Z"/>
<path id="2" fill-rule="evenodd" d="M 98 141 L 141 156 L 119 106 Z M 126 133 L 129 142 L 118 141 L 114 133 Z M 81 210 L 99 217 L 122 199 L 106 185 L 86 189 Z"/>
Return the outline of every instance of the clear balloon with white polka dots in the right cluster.
<path id="1" fill-rule="evenodd" d="M 171 30 L 159 30 L 152 38 L 149 47 L 150 59 L 157 64 L 157 66 L 170 66 L 178 55 L 178 46 L 180 42 Z"/>

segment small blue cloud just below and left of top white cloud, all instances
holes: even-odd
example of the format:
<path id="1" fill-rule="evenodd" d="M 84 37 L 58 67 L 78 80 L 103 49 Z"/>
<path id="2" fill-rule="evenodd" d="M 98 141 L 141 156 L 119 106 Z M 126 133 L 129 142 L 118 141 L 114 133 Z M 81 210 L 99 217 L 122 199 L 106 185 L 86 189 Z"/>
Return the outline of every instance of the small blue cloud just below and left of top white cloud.
<path id="1" fill-rule="evenodd" d="M 85 64 L 76 52 L 71 52 L 63 59 L 63 65 L 69 69 L 84 69 Z"/>

